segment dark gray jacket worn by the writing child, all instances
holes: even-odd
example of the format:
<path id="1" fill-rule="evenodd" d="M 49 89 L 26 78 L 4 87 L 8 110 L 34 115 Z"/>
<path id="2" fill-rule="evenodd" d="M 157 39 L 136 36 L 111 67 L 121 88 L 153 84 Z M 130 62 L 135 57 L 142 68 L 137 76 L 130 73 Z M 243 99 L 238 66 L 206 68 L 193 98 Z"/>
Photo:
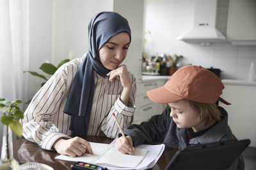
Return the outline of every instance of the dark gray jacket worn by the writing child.
<path id="1" fill-rule="evenodd" d="M 142 143 L 163 143 L 166 146 L 183 150 L 186 146 L 212 143 L 234 139 L 234 136 L 228 126 L 228 115 L 220 106 L 221 121 L 213 125 L 207 132 L 188 140 L 186 129 L 179 129 L 170 117 L 170 108 L 166 107 L 161 115 L 155 115 L 148 122 L 142 122 L 140 125 L 131 125 L 124 133 L 131 136 L 134 146 Z M 230 166 L 230 169 L 244 169 L 244 160 L 240 156 Z"/>

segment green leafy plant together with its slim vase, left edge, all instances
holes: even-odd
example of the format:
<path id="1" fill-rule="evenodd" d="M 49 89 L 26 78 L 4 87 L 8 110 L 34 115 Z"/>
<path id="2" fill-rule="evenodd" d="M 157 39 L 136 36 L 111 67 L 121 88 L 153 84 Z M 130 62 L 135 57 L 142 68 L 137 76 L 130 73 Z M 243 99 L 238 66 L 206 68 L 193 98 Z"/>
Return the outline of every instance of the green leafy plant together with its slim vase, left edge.
<path id="1" fill-rule="evenodd" d="M 4 124 L 0 169 L 19 169 L 19 162 L 13 158 L 12 132 L 22 136 L 19 119 L 24 117 L 24 113 L 19 108 L 20 103 L 20 100 L 9 101 L 0 97 L 0 113 L 3 114 L 1 122 Z"/>

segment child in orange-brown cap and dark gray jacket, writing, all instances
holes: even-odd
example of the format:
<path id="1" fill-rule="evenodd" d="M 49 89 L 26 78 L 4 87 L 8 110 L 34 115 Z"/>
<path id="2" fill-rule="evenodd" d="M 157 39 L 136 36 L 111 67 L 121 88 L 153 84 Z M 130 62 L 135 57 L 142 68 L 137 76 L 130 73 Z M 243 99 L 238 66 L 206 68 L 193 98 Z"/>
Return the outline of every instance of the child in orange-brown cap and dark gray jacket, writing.
<path id="1" fill-rule="evenodd" d="M 163 87 L 147 92 L 156 103 L 166 103 L 161 115 L 148 122 L 131 125 L 123 137 L 116 139 L 116 148 L 131 154 L 142 143 L 164 143 L 183 150 L 186 146 L 234 139 L 228 127 L 228 115 L 216 101 L 225 104 L 220 95 L 224 89 L 220 78 L 201 66 L 184 66 L 177 70 Z M 243 157 L 237 158 L 230 169 L 244 169 Z"/>

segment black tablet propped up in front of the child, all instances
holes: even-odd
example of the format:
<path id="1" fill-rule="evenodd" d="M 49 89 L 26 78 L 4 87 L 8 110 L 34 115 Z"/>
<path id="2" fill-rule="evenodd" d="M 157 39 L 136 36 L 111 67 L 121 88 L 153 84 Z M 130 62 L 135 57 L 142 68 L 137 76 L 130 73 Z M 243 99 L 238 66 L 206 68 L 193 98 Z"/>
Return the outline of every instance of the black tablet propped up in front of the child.
<path id="1" fill-rule="evenodd" d="M 228 169 L 249 144 L 250 139 L 233 139 L 188 146 L 184 150 L 179 150 L 175 153 L 165 170 Z"/>

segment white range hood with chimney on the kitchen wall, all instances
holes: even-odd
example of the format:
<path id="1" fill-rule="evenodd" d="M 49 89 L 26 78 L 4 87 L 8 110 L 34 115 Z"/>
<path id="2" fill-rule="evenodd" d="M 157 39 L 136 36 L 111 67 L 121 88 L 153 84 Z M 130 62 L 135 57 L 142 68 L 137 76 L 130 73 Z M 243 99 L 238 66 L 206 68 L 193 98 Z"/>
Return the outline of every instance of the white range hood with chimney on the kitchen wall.
<path id="1" fill-rule="evenodd" d="M 188 43 L 225 42 L 226 38 L 216 29 L 217 0 L 195 0 L 194 25 L 178 39 Z"/>

